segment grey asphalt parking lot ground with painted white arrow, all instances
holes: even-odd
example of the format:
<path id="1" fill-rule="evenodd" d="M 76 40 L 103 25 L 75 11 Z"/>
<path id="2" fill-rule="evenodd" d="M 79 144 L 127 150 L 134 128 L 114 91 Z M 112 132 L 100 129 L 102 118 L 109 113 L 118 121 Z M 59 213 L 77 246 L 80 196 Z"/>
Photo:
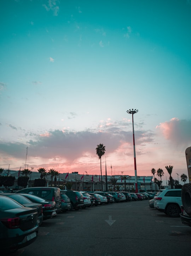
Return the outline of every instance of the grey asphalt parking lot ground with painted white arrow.
<path id="1" fill-rule="evenodd" d="M 144 200 L 60 213 L 43 221 L 35 243 L 12 255 L 190 256 L 190 244 L 190 227 Z"/>

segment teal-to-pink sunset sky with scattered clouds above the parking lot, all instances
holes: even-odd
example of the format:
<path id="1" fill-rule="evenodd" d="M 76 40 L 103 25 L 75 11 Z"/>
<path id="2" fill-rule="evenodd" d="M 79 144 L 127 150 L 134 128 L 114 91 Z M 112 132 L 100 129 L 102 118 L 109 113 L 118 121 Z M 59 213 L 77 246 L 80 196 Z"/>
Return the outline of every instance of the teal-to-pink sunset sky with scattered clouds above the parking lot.
<path id="1" fill-rule="evenodd" d="M 191 0 L 0 0 L 0 168 L 137 175 L 191 146 Z M 112 169 L 110 168 L 112 166 Z"/>

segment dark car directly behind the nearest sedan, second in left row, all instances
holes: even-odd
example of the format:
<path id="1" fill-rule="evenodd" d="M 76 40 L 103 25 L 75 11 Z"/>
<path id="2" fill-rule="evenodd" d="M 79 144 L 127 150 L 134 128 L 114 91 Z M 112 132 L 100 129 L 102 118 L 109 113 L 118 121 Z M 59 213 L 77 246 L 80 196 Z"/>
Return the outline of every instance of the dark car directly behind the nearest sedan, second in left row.
<path id="1" fill-rule="evenodd" d="M 36 208 L 36 211 L 38 214 L 37 222 L 38 222 L 39 226 L 42 224 L 43 213 L 42 213 L 42 205 L 40 203 L 34 203 L 34 202 L 30 201 L 28 198 L 24 197 L 22 194 L 1 193 L 0 195 L 10 197 L 25 207 Z"/>

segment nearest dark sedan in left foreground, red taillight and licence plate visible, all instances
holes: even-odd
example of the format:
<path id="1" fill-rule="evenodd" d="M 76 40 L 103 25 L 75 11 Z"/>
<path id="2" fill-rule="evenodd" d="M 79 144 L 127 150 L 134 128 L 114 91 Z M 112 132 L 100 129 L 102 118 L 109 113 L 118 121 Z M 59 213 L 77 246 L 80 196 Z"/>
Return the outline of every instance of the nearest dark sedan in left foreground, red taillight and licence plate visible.
<path id="1" fill-rule="evenodd" d="M 12 198 L 0 195 L 1 255 L 33 243 L 38 236 L 37 220 L 35 208 L 24 207 Z"/>

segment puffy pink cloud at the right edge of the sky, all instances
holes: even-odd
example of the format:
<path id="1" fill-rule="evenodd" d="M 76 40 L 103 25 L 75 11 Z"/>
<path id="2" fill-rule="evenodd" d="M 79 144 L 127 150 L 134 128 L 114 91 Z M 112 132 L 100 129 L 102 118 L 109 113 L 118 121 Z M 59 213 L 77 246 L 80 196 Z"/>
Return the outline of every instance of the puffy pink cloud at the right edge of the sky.
<path id="1" fill-rule="evenodd" d="M 164 138 L 170 141 L 174 146 L 183 146 L 191 144 L 191 120 L 179 120 L 172 118 L 170 121 L 162 122 L 156 127 Z"/>

